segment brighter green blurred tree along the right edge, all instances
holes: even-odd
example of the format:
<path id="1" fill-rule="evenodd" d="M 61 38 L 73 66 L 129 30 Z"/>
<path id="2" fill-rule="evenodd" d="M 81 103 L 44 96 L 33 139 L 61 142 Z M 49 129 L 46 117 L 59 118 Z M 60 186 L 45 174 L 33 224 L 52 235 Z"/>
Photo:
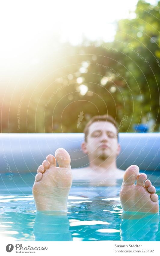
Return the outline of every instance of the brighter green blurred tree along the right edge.
<path id="1" fill-rule="evenodd" d="M 135 13 L 135 19 L 118 22 L 114 45 L 119 46 L 121 63 L 129 69 L 129 73 L 126 71 L 128 81 L 132 87 L 134 84 L 133 96 L 136 97 L 140 110 L 138 113 L 138 109 L 135 109 L 135 121 L 142 121 L 144 116 L 146 120 L 152 117 L 158 130 L 160 67 L 157 58 L 160 57 L 160 2 L 157 6 L 152 6 L 139 1 Z"/>

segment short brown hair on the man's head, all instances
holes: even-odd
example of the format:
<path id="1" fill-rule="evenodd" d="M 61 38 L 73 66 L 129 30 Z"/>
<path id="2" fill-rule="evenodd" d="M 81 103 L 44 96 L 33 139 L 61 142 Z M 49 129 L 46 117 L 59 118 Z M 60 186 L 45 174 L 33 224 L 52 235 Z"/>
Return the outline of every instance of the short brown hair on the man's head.
<path id="1" fill-rule="evenodd" d="M 85 129 L 84 129 L 84 134 L 85 134 L 85 142 L 87 142 L 87 137 L 88 137 L 88 132 L 89 132 L 89 127 L 91 124 L 94 122 L 99 122 L 99 121 L 105 121 L 105 122 L 110 122 L 112 123 L 116 130 L 117 130 L 117 137 L 118 137 L 118 125 L 115 119 L 110 116 L 110 115 L 95 115 L 91 118 L 91 120 L 86 124 Z"/>

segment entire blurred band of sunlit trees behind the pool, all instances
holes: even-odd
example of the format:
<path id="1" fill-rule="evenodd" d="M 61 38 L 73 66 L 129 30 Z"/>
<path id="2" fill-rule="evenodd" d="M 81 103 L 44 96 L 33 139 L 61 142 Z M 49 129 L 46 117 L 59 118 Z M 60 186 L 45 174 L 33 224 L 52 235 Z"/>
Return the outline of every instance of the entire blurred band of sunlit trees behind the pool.
<path id="1" fill-rule="evenodd" d="M 92 116 L 106 113 L 118 123 L 128 116 L 120 132 L 150 119 L 158 131 L 159 7 L 139 1 L 135 18 L 118 22 L 112 43 L 46 39 L 41 62 L 12 80 L 16 89 L 4 84 L 2 132 L 82 132 Z"/>

